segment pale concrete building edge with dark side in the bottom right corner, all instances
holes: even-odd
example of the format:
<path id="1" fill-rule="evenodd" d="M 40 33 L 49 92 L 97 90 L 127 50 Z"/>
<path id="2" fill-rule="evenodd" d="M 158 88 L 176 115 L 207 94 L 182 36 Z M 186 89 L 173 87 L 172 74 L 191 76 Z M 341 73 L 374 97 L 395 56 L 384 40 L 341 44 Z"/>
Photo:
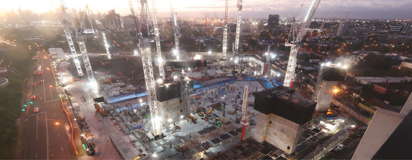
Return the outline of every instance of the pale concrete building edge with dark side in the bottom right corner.
<path id="1" fill-rule="evenodd" d="M 412 95 L 400 113 L 379 108 L 373 115 L 352 160 L 410 159 Z"/>

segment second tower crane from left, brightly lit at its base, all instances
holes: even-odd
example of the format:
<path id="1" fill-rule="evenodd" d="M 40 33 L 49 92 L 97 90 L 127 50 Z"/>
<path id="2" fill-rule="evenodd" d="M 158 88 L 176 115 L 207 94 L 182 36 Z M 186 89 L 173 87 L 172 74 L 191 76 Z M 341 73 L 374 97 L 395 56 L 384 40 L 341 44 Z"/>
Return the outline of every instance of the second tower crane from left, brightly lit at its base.
<path id="1" fill-rule="evenodd" d="M 94 32 L 93 24 L 91 23 L 90 17 L 88 18 L 90 20 L 90 25 L 92 29 L 91 30 L 87 29 L 84 26 L 84 19 L 86 17 L 87 11 L 89 11 L 89 7 L 86 5 L 86 8 L 84 9 L 82 24 L 79 29 L 80 32 L 76 32 L 76 40 L 77 40 L 77 43 L 79 44 L 80 52 L 82 53 L 83 63 L 84 63 L 84 66 L 86 67 L 87 77 L 89 78 L 88 81 L 90 84 L 91 91 L 93 93 L 93 97 L 100 97 L 100 94 L 97 88 L 98 86 L 97 81 L 94 79 L 94 73 L 91 68 L 89 55 L 86 50 L 86 42 L 84 41 L 84 37 L 96 37 L 96 32 Z"/>

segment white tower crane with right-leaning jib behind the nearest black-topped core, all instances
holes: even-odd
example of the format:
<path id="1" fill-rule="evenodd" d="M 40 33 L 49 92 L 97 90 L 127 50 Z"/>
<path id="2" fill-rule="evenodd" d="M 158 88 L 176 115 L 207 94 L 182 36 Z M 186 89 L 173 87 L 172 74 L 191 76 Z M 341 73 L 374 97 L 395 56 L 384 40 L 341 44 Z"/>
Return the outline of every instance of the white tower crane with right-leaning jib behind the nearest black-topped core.
<path id="1" fill-rule="evenodd" d="M 306 30 L 306 28 L 309 27 L 309 25 L 312 21 L 312 17 L 314 16 L 314 14 L 316 12 L 316 9 L 319 6 L 319 3 L 321 3 L 321 0 L 312 0 L 312 3 L 309 7 L 309 10 L 308 10 L 305 18 L 303 19 L 302 24 L 299 28 L 299 31 L 296 35 L 296 38 L 293 39 L 291 42 L 286 42 L 285 43 L 285 46 L 291 46 L 291 48 L 290 48 L 288 67 L 286 68 L 285 81 L 283 82 L 283 86 L 292 87 L 292 81 L 295 81 L 295 77 L 296 77 L 296 75 L 295 75 L 295 66 L 296 66 L 297 51 L 300 48 L 300 42 L 303 39 L 303 36 L 305 34 L 305 30 Z M 292 25 L 292 27 L 293 27 L 293 25 Z M 293 28 L 293 30 L 295 30 L 295 29 Z"/>

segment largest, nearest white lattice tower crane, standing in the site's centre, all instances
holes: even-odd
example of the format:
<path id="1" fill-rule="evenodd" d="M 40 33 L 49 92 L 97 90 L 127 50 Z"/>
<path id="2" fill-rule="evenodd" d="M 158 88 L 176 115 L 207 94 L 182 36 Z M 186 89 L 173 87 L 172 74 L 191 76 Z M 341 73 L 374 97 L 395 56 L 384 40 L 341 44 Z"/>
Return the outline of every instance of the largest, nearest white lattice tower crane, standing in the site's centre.
<path id="1" fill-rule="evenodd" d="M 154 34 L 150 32 L 150 13 L 147 0 L 138 0 L 139 12 L 135 12 L 132 0 L 129 0 L 130 11 L 133 16 L 133 23 L 138 32 L 138 48 L 142 57 L 143 73 L 145 75 L 145 83 L 147 90 L 147 104 L 149 106 L 150 115 L 152 119 L 152 134 L 155 137 L 160 137 L 162 131 L 160 130 L 162 120 L 159 117 L 157 108 L 157 96 L 155 90 L 155 79 L 153 76 L 152 53 L 150 51 L 150 41 L 155 39 Z M 140 24 L 134 20 L 135 13 L 140 16 Z M 140 26 L 140 27 L 139 27 Z"/>

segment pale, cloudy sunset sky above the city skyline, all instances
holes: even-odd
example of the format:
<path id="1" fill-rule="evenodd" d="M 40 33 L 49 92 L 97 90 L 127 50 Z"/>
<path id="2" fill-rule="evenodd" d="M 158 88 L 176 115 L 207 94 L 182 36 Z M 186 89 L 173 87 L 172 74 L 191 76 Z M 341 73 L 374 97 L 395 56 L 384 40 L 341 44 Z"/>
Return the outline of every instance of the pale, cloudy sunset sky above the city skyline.
<path id="1" fill-rule="evenodd" d="M 136 0 L 134 0 L 136 1 Z M 223 17 L 225 0 L 172 0 L 174 11 L 178 17 Z M 149 2 L 151 2 L 149 0 Z M 229 18 L 236 16 L 237 0 L 229 0 Z M 169 0 L 157 0 L 158 17 L 169 17 Z M 298 9 L 303 3 L 300 12 Z M 297 14 L 302 18 L 311 3 L 311 0 L 243 0 L 242 18 L 267 18 L 268 14 L 279 14 L 284 17 L 293 17 Z M 30 9 L 35 13 L 48 12 L 59 6 L 59 0 L 0 0 L 0 10 L 9 11 L 11 7 L 16 11 Z M 128 0 L 66 0 L 69 8 L 82 9 L 88 4 L 93 11 L 107 12 L 115 9 L 125 16 L 130 14 Z M 322 0 L 316 11 L 318 18 L 345 18 L 348 10 L 351 19 L 412 19 L 412 0 Z"/>

